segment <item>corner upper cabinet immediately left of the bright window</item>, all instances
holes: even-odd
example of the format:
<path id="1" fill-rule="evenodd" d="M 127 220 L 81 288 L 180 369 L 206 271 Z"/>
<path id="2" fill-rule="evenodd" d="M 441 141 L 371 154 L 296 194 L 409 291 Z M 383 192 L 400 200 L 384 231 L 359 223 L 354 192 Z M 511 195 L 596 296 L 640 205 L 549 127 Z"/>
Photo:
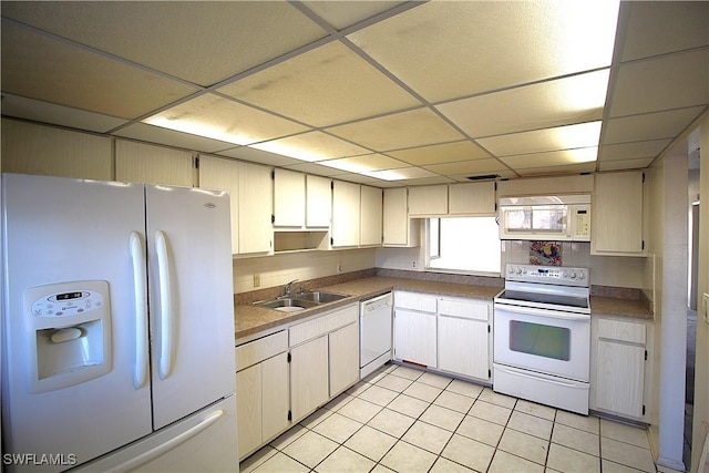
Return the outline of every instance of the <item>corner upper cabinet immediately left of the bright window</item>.
<path id="1" fill-rule="evenodd" d="M 421 219 L 409 218 L 409 189 L 384 189 L 383 246 L 419 246 Z"/>

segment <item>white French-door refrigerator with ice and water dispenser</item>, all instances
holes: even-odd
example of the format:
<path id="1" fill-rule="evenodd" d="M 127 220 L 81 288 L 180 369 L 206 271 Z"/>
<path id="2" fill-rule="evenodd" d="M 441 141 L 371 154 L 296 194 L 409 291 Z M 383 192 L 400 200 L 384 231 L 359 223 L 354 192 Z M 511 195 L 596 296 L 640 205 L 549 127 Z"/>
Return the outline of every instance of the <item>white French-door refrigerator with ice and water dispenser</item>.
<path id="1" fill-rule="evenodd" d="M 4 467 L 237 470 L 228 194 L 2 179 Z"/>

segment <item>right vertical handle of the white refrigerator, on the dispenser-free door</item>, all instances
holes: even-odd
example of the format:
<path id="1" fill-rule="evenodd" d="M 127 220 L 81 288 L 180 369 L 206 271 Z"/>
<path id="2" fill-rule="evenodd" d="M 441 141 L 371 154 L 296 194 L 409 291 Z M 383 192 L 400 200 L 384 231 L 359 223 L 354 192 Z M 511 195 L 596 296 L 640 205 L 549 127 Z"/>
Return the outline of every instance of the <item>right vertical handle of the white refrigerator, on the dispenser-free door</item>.
<path id="1" fill-rule="evenodd" d="M 165 379 L 169 376 L 169 370 L 172 369 L 172 294 L 167 237 L 162 230 L 155 233 L 155 251 L 157 253 L 157 273 L 160 277 L 160 379 Z"/>

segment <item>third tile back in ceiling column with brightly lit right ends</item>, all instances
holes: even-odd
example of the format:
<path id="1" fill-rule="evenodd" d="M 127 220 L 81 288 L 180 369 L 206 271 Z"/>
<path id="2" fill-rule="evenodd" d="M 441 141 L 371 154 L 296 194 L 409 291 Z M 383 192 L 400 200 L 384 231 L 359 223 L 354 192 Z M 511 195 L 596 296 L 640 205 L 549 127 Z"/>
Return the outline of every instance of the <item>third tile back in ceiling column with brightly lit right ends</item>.
<path id="1" fill-rule="evenodd" d="M 496 156 L 510 156 L 597 146 L 599 134 L 600 122 L 590 122 L 494 136 L 477 142 Z"/>

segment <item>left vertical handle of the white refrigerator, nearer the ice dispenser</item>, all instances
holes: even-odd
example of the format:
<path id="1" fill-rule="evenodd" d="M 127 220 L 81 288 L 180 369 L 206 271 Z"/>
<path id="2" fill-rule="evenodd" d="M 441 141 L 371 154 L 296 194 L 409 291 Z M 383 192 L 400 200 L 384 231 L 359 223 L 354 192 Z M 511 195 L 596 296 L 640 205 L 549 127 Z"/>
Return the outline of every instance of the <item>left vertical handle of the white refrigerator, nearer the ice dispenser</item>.
<path id="1" fill-rule="evenodd" d="M 133 260 L 133 288 L 135 294 L 135 389 L 141 389 L 147 378 L 147 284 L 143 237 L 131 232 L 131 258 Z"/>

